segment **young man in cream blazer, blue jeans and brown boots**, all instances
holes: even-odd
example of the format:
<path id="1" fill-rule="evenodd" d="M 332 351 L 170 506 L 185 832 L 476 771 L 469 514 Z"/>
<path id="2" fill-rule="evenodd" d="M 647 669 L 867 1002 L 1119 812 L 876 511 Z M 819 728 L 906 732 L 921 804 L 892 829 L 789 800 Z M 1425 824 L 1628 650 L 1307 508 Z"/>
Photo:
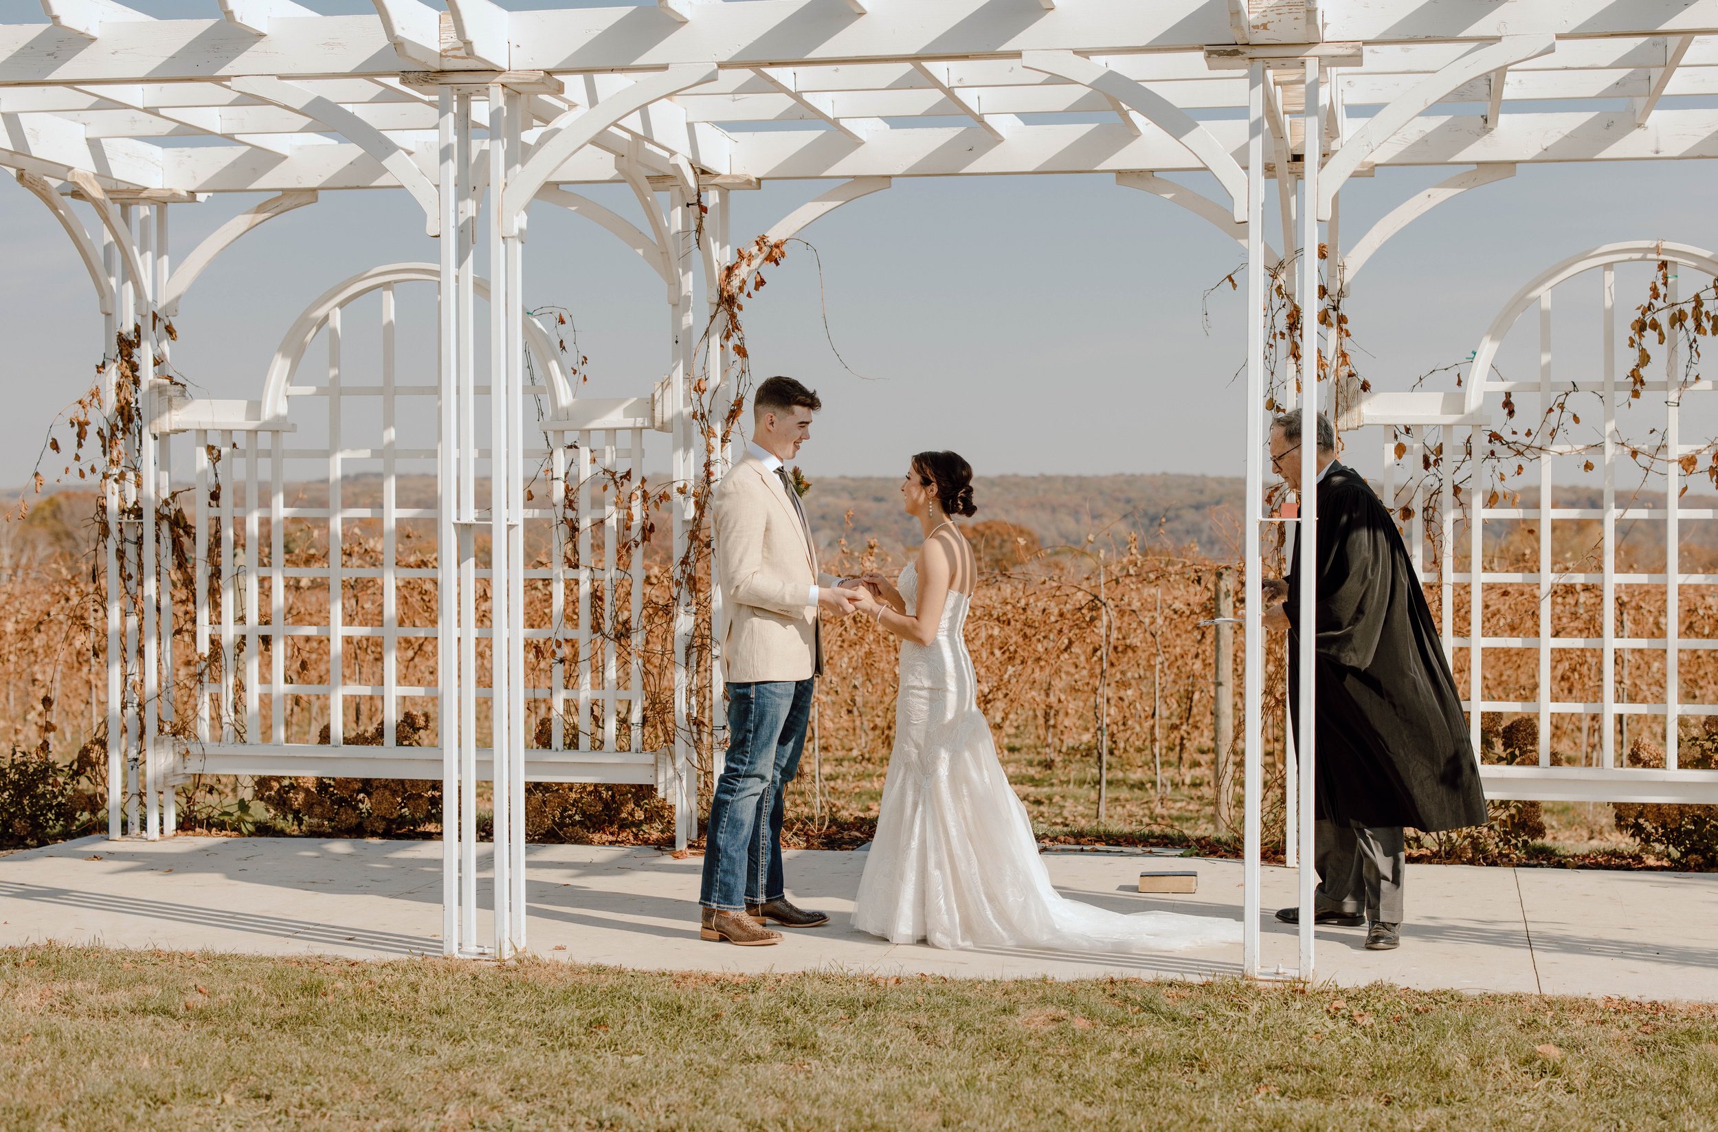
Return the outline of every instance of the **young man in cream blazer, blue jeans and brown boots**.
<path id="1" fill-rule="evenodd" d="M 799 771 L 816 677 L 819 615 L 845 617 L 859 582 L 818 572 L 818 548 L 785 462 L 811 435 L 818 395 L 770 378 L 752 395 L 752 440 L 716 488 L 716 570 L 727 613 L 728 754 L 710 802 L 699 936 L 740 946 L 819 928 L 823 912 L 787 900 L 782 790 Z"/>

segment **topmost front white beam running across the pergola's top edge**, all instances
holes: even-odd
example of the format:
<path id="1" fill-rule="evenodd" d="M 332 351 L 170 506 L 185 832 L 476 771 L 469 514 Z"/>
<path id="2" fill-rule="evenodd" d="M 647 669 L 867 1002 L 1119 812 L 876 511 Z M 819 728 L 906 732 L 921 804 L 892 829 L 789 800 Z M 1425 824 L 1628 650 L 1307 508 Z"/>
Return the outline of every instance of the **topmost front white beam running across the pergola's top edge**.
<path id="1" fill-rule="evenodd" d="M 89 10 L 93 0 L 65 0 L 67 10 L 79 2 L 81 10 Z M 423 69 L 436 67 L 440 12 L 419 0 L 373 2 L 375 17 L 278 21 L 261 41 L 225 19 L 108 21 L 94 43 L 41 24 L 0 26 L 0 84 L 110 82 L 137 76 L 206 81 L 258 72 L 283 79 L 387 76 L 399 72 L 399 55 Z M 62 0 L 52 3 L 62 7 Z M 1036 19 L 1000 21 L 998 3 L 912 0 L 856 19 L 835 0 L 747 0 L 698 5 L 698 19 L 685 24 L 641 19 L 648 12 L 618 3 L 521 10 L 509 14 L 510 65 L 555 72 L 651 70 L 677 62 L 845 65 L 916 53 L 940 60 L 1007 60 L 1027 50 L 1197 52 L 1235 38 L 1227 0 L 1079 0 Z M 1502 34 L 1555 34 L 1589 43 L 1718 34 L 1718 0 L 1450 0 L 1419 3 L 1412 17 L 1404 17 L 1397 3 L 1342 3 L 1325 9 L 1323 17 L 1328 40 L 1366 41 L 1369 55 L 1390 45 L 1435 50 Z"/>

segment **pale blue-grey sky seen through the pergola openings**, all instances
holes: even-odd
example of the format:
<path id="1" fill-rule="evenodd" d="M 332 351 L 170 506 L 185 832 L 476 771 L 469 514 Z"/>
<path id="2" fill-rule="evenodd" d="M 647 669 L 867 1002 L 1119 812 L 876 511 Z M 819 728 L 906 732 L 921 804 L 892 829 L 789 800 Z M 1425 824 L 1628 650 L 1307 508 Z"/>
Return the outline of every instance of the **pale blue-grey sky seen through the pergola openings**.
<path id="1" fill-rule="evenodd" d="M 369 10 L 368 0 L 352 3 Z M 201 15 L 210 5 L 137 7 Z M 1345 242 L 1443 175 L 1380 170 L 1350 182 Z M 819 189 L 735 194 L 734 237 L 763 232 Z M 1349 311 L 1369 352 L 1366 373 L 1402 388 L 1465 357 L 1496 307 L 1570 253 L 1622 239 L 1718 246 L 1711 189 L 1704 161 L 1546 165 L 1443 204 L 1390 242 L 1356 287 Z M 608 187 L 591 194 L 632 208 Z M 256 199 L 175 206 L 175 256 Z M 825 397 L 802 453 L 807 471 L 893 472 L 904 453 L 928 447 L 960 450 L 981 474 L 1242 469 L 1239 295 L 1215 294 L 1209 332 L 1201 326 L 1201 294 L 1242 253 L 1206 222 L 1112 177 L 900 179 L 806 237 L 823 258 L 830 332 L 861 376 L 830 350 L 802 247 L 770 273 L 747 328 L 759 376 L 790 373 Z M 19 483 L 48 421 L 88 386 L 101 323 L 70 244 L 10 179 L 0 182 L 0 481 Z M 175 362 L 211 395 L 256 397 L 270 354 L 311 299 L 402 259 L 436 259 L 404 192 L 325 194 L 204 273 L 177 320 Z M 665 371 L 661 287 L 594 225 L 538 206 L 527 302 L 574 311 L 593 393 L 643 393 Z"/>

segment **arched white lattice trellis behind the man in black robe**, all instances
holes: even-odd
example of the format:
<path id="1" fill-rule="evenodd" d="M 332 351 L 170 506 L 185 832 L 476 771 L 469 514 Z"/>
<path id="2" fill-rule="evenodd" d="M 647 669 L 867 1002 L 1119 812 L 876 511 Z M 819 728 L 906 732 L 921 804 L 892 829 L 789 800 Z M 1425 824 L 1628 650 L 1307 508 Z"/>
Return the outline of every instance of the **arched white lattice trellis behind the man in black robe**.
<path id="1" fill-rule="evenodd" d="M 1660 261 L 1697 271 L 1706 277 L 1718 277 L 1718 256 L 1709 251 L 1685 244 L 1668 244 L 1661 240 L 1632 240 L 1606 244 L 1577 253 L 1546 268 L 1538 277 L 1520 287 L 1491 320 L 1474 349 L 1467 364 L 1467 378 L 1462 388 L 1448 393 L 1380 393 L 1364 405 L 1368 424 L 1393 426 L 1386 436 L 1386 495 L 1410 515 L 1407 534 L 1416 551 L 1416 560 L 1426 574 L 1426 581 L 1435 581 L 1441 587 L 1443 639 L 1445 648 L 1455 656 L 1464 656 L 1467 665 L 1465 706 L 1472 742 L 1476 751 L 1481 739 L 1481 716 L 1488 713 L 1534 715 L 1538 718 L 1539 749 L 1536 764 L 1483 766 L 1481 776 L 1490 797 L 1522 799 L 1572 799 L 1572 800 L 1639 800 L 1639 802 L 1718 802 L 1718 776 L 1711 771 L 1682 770 L 1677 766 L 1678 720 L 1682 716 L 1704 716 L 1718 713 L 1718 704 L 1685 703 L 1678 679 L 1680 654 L 1691 649 L 1711 648 L 1704 637 L 1689 637 L 1680 627 L 1680 593 L 1689 586 L 1718 586 L 1718 575 L 1692 574 L 1678 562 L 1678 522 L 1682 519 L 1711 519 L 1715 512 L 1701 507 L 1685 507 L 1682 493 L 1687 478 L 1680 467 L 1680 457 L 1703 450 L 1685 447 L 1680 440 L 1680 417 L 1684 399 L 1689 395 L 1706 397 L 1713 383 L 1706 380 L 1685 381 L 1678 373 L 1677 347 L 1672 342 L 1665 359 L 1665 374 L 1649 378 L 1642 392 L 1661 393 L 1665 399 L 1665 428 L 1658 440 L 1634 436 L 1639 447 L 1663 445 L 1665 496 L 1661 507 L 1630 505 L 1618 507 L 1618 469 L 1627 464 L 1630 438 L 1625 436 L 1625 421 L 1618 417 L 1618 405 L 1627 402 L 1627 383 L 1618 385 L 1617 366 L 1617 323 L 1622 313 L 1617 309 L 1615 271 L 1624 265 L 1656 265 Z M 1601 354 L 1594 359 L 1577 362 L 1560 362 L 1551 337 L 1551 301 L 1560 287 L 1584 285 L 1587 278 L 1598 283 L 1599 337 Z M 1677 275 L 1672 275 L 1675 289 Z M 1675 299 L 1675 294 L 1668 295 Z M 1495 373 L 1498 352 L 1503 349 L 1512 332 L 1522 321 L 1538 313 L 1538 374 L 1532 380 L 1507 380 Z M 1594 373 L 1596 371 L 1596 373 Z M 1550 411 L 1553 399 L 1570 392 L 1596 393 L 1601 409 L 1601 443 L 1594 447 L 1593 459 L 1603 478 L 1603 498 L 1598 508 L 1558 505 L 1553 498 L 1555 476 L 1553 460 L 1569 445 L 1553 448 L 1532 459 L 1538 471 L 1538 486 L 1529 488 L 1534 496 L 1527 507 L 1514 503 L 1496 505 L 1479 486 L 1479 476 L 1471 476 L 1474 484 L 1469 491 L 1474 498 L 1465 498 L 1465 512 L 1459 512 L 1453 495 L 1453 483 L 1448 472 L 1441 476 L 1440 498 L 1431 498 L 1431 488 L 1421 474 L 1421 467 L 1441 448 L 1450 453 L 1443 457 L 1445 469 L 1453 467 L 1455 448 L 1462 443 L 1471 453 L 1479 453 L 1488 447 L 1488 433 L 1498 428 L 1502 411 L 1495 405 L 1505 397 L 1538 397 L 1541 414 Z M 1672 395 L 1675 393 L 1675 395 Z M 1534 419 L 1534 417 L 1527 417 Z M 1428 429 L 1436 428 L 1433 435 Z M 1656 428 L 1656 426 L 1654 426 Z M 1398 460 L 1395 455 L 1397 435 L 1402 435 L 1405 452 Z M 1572 450 L 1572 448 L 1570 448 Z M 1476 464 L 1471 457 L 1471 464 Z M 1405 467 L 1405 481 L 1397 483 L 1398 467 Z M 1440 529 L 1428 527 L 1436 515 Z M 1663 524 L 1665 569 L 1649 572 L 1625 572 L 1618 567 L 1618 531 L 1617 522 L 1627 517 L 1634 522 Z M 1465 529 L 1459 531 L 1457 520 L 1465 520 Z M 1601 536 L 1594 546 L 1594 563 L 1584 569 L 1558 567 L 1553 562 L 1551 529 L 1558 520 L 1596 519 L 1601 524 Z M 1538 531 L 1538 565 L 1531 572 L 1493 570 L 1486 565 L 1486 524 L 1529 520 Z M 1459 562 L 1457 546 L 1465 536 L 1465 570 Z M 1429 545 L 1438 545 L 1441 553 L 1436 563 L 1426 562 Z M 1493 627 L 1496 613 L 1488 608 L 1486 586 L 1522 586 L 1538 587 L 1538 632 L 1519 636 Z M 1617 599 L 1618 584 L 1651 587 L 1665 598 L 1665 625 L 1660 636 L 1624 634 L 1618 627 Z M 1598 636 L 1558 634 L 1553 627 L 1553 599 L 1560 586 L 1598 586 L 1599 587 L 1599 632 Z M 1459 601 L 1465 601 L 1465 625 L 1455 620 Z M 1488 649 L 1532 649 L 1538 658 L 1538 694 L 1529 699 L 1490 694 L 1486 680 L 1484 656 Z M 1553 696 L 1553 660 L 1560 649 L 1596 651 L 1599 658 L 1598 703 L 1560 701 Z M 1665 665 L 1665 692 L 1661 703 L 1630 704 L 1620 692 L 1618 651 L 1648 649 L 1658 651 Z M 1589 715 L 1599 721 L 1598 752 L 1593 764 L 1553 764 L 1553 721 L 1570 715 Z M 1627 766 L 1618 752 L 1617 730 L 1613 721 L 1620 716 L 1644 716 L 1648 720 L 1663 716 L 1663 768 Z"/>

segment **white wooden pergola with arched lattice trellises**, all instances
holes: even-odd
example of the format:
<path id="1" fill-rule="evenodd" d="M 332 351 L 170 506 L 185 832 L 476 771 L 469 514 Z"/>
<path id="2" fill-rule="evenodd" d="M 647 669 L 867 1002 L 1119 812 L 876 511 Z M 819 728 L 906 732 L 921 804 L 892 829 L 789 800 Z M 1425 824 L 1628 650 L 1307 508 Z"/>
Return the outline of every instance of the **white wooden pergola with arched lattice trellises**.
<path id="1" fill-rule="evenodd" d="M 546 0 L 553 3 L 553 0 Z M 617 663 L 613 642 L 589 629 L 591 594 L 631 593 L 639 599 L 641 555 L 615 557 L 617 531 L 629 515 L 613 496 L 591 491 L 598 469 L 637 467 L 643 433 L 673 438 L 673 476 L 687 483 L 703 464 L 703 438 L 689 414 L 689 383 L 698 349 L 698 275 L 706 311 L 734 247 L 728 235 L 732 192 L 766 180 L 828 180 L 830 187 L 770 230 L 782 239 L 828 211 L 886 189 L 895 177 L 971 177 L 998 173 L 1106 173 L 1118 184 L 1161 196 L 1232 235 L 1246 247 L 1247 270 L 1247 522 L 1246 522 L 1246 971 L 1261 974 L 1259 806 L 1263 794 L 1259 627 L 1264 436 L 1266 266 L 1282 256 L 1264 244 L 1264 216 L 1276 210 L 1283 242 L 1326 246 L 1323 278 L 1345 292 L 1393 234 L 1455 194 L 1510 177 L 1536 161 L 1634 161 L 1718 156 L 1718 0 L 658 0 L 613 7 L 507 10 L 493 0 L 375 0 L 364 15 L 321 15 L 294 0 L 210 0 L 206 19 L 149 19 L 112 0 L 41 0 L 46 22 L 0 26 L 0 165 L 15 170 L 64 225 L 107 314 L 105 349 L 117 330 L 139 326 L 141 381 L 148 426 L 131 459 L 143 469 L 132 486 L 112 486 L 113 507 L 136 505 L 141 536 L 108 560 L 108 735 L 110 833 L 158 837 L 174 828 L 172 783 L 187 768 L 216 773 L 297 773 L 435 778 L 445 782 L 445 931 L 448 953 L 510 955 L 526 943 L 524 782 L 644 782 L 673 800 L 679 833 L 692 833 L 696 783 L 689 768 L 691 715 L 687 646 L 691 610 L 675 625 L 679 656 L 675 744 L 644 751 L 637 651 L 632 670 Z M 1318 139 L 1309 146 L 1307 139 Z M 1450 167 L 1431 189 L 1402 201 L 1359 239 L 1338 232 L 1342 189 L 1378 167 Z M 1199 173 L 1209 192 L 1172 180 Z M 632 189 L 641 222 L 579 196 L 569 186 L 615 182 Z M 1275 187 L 1268 187 L 1273 182 Z M 424 230 L 440 237 L 440 263 L 378 265 L 337 282 L 309 304 L 282 342 L 254 400 L 187 400 L 167 395 L 155 359 L 168 344 L 156 316 L 170 318 L 198 275 L 246 232 L 321 192 L 400 191 L 423 211 Z M 215 192 L 266 192 L 182 259 L 168 256 L 168 213 Z M 94 225 L 69 204 L 89 206 Z M 409 201 L 409 203 L 407 203 Z M 699 204 L 708 206 L 694 246 Z M 522 258 L 533 210 L 567 208 L 625 240 L 661 278 L 668 306 L 668 374 L 655 388 L 624 400 L 576 395 L 551 335 L 524 311 Z M 479 256 L 486 265 L 479 265 Z M 1550 337 L 1532 381 L 1490 376 L 1490 359 L 1531 307 L 1550 326 L 1551 290 L 1584 273 L 1601 280 L 1606 335 L 1615 332 L 1617 265 L 1670 256 L 1691 273 L 1713 275 L 1718 261 L 1692 247 L 1653 242 L 1613 246 L 1577 256 L 1531 282 L 1479 344 L 1464 388 L 1452 393 L 1378 390 L 1350 424 L 1405 429 L 1410 459 L 1404 483 L 1386 460 L 1386 491 L 1426 514 L 1428 488 L 1412 469 L 1443 440 L 1477 438 L 1490 421 L 1488 395 L 1553 390 Z M 479 273 L 481 271 L 481 273 Z M 1319 256 L 1294 261 L 1294 290 L 1318 294 Z M 393 373 L 395 292 L 436 289 L 440 381 L 411 383 Z M 381 373 L 342 374 L 342 311 L 381 294 Z M 488 311 L 488 359 L 476 357 L 478 302 Z M 311 340 L 326 340 L 328 373 L 299 371 Z M 1613 337 L 1606 337 L 1615 344 Z M 1302 356 L 1321 342 L 1314 318 L 1302 320 Z M 1615 349 L 1603 373 L 1574 378 L 1613 404 Z M 722 366 L 720 373 L 727 373 Z M 493 374 L 493 381 L 490 378 Z M 531 376 L 527 376 L 531 374 Z M 1557 388 L 1570 380 L 1557 376 Z M 1328 385 L 1328 383 L 1326 383 Z M 1325 386 L 1318 386 L 1325 388 Z M 1709 388 L 1678 383 L 1666 371 L 1660 390 Z M 1292 383 L 1290 392 L 1292 397 Z M 433 399 L 433 431 L 416 440 L 393 412 L 400 399 Z M 526 423 L 529 397 L 546 399 L 548 416 Z M 1330 404 L 1330 393 L 1321 395 Z M 354 399 L 381 405 L 380 435 L 342 431 Z M 323 407 L 313 409 L 318 400 Z M 1666 399 L 1672 400 L 1672 399 Z M 328 440 L 294 445 L 311 412 L 326 411 Z M 1426 581 L 1443 587 L 1445 646 L 1467 653 L 1474 735 L 1481 711 L 1538 713 L 1538 766 L 1486 766 L 1493 797 L 1718 800 L 1709 771 L 1678 770 L 1678 715 L 1718 713 L 1684 704 L 1677 654 L 1711 648 L 1680 637 L 1678 586 L 1718 584 L 1715 575 L 1677 567 L 1678 472 L 1677 407 L 1670 416 L 1665 510 L 1641 514 L 1666 524 L 1668 565 L 1656 575 L 1615 569 L 1613 462 L 1620 426 L 1605 419 L 1605 505 L 1593 515 L 1553 508 L 1546 464 L 1532 507 L 1469 510 L 1471 569 L 1457 572 L 1450 478 L 1443 476 L 1441 558 L 1426 557 L 1424 522 L 1410 539 Z M 478 436 L 479 423 L 488 438 Z M 541 433 L 545 443 L 536 443 Z M 1386 440 L 1393 447 L 1397 433 Z M 1436 441 L 1433 440 L 1436 436 Z M 206 684 L 196 704 L 198 742 L 163 740 L 174 711 L 161 696 L 170 666 L 172 605 L 156 529 L 155 503 L 172 483 L 177 447 L 196 478 L 196 553 L 218 551 L 220 574 L 199 570 L 198 648 L 220 653 L 222 682 Z M 211 452 L 228 452 L 225 469 Z M 1313 447 L 1302 448 L 1311 479 Z M 560 488 L 579 496 L 577 565 L 526 569 L 524 531 L 555 522 L 553 507 L 524 498 L 526 469 L 550 460 Z M 289 467 L 313 464 L 326 476 L 325 507 L 287 507 Z M 352 467 L 378 467 L 380 507 L 349 507 L 340 488 Z M 395 500 L 400 474 L 419 469 L 438 478 L 438 503 L 409 508 Z M 495 474 L 490 474 L 491 469 Z M 213 476 L 227 490 L 210 502 Z M 478 498 L 479 481 L 490 496 Z M 1431 483 L 1431 481 L 1426 481 Z M 242 488 L 242 491 L 241 491 Z M 134 493 L 136 498 L 131 498 Z M 125 495 L 127 498 L 120 498 Z M 560 498 L 562 490 L 553 493 Z M 1302 522 L 1316 526 L 1316 500 Z M 620 508 L 624 510 L 624 507 Z M 696 536 L 689 503 L 673 508 L 675 558 Z M 1605 526 L 1605 565 L 1593 575 L 1553 575 L 1550 538 L 1541 539 L 1538 572 L 1483 569 L 1488 519 L 1596 517 Z M 1713 519 L 1682 510 L 1680 517 Z M 292 520 L 323 524 L 325 569 L 283 567 L 282 529 Z M 342 563 L 342 524 L 380 520 L 380 569 Z M 433 569 L 395 560 L 402 524 L 433 522 L 440 548 Z M 256 548 L 268 531 L 271 563 L 235 563 L 235 538 Z M 601 529 L 598 558 L 591 533 Z M 478 534 L 491 557 L 479 569 Z M 120 574 L 143 584 L 139 618 L 113 596 Z M 631 572 L 631 586 L 627 586 Z M 261 575 L 261 577 L 259 577 Z M 402 625 L 395 587 L 411 575 L 436 582 L 438 625 Z M 282 591 L 311 577 L 330 589 L 326 625 L 287 625 Z M 493 586 L 493 617 L 479 625 L 476 581 Z M 381 625 L 340 622 L 342 586 L 378 579 Z M 268 601 L 259 581 L 268 582 Z M 524 586 L 548 581 L 557 624 L 526 627 Z M 1555 582 L 1593 581 L 1605 587 L 1603 634 L 1557 637 L 1550 624 Z M 1488 637 L 1483 627 L 1486 582 L 1538 584 L 1536 637 Z M 1613 625 L 1615 586 L 1663 584 L 1672 610 L 1666 632 L 1634 639 Z M 1471 618 L 1455 634 L 1455 594 L 1464 587 Z M 593 589 L 594 587 L 594 589 Z M 576 603 L 565 610 L 564 601 Z M 1311 620 L 1313 593 L 1302 594 Z M 271 608 L 270 608 L 271 606 Z M 720 608 L 716 612 L 720 618 Z M 493 625 L 493 629 L 491 629 Z M 404 687 L 393 677 L 399 641 L 435 637 L 435 687 Z M 720 636 L 720 634 L 718 634 Z M 283 648 L 268 639 L 328 641 L 326 685 L 289 685 Z M 378 637 L 383 682 L 344 679 L 350 641 Z M 527 639 L 555 637 L 577 648 L 555 661 L 550 687 L 527 687 Z M 483 646 L 479 642 L 486 641 Z M 1484 648 L 1531 648 L 1539 654 L 1539 696 L 1488 699 L 1481 685 Z M 1550 696 L 1557 648 L 1603 654 L 1601 703 L 1555 703 Z M 1617 699 L 1618 648 L 1663 649 L 1665 704 Z M 479 665 L 479 649 L 493 654 Z M 1311 673 L 1311 637 L 1302 672 Z M 289 691 L 290 689 L 290 691 Z M 321 696 L 332 704 L 326 746 L 292 744 L 285 733 L 287 696 Z M 1302 684 L 1304 725 L 1299 787 L 1290 787 L 1290 859 L 1311 861 L 1313 680 Z M 342 735 L 347 696 L 376 696 L 387 720 L 383 746 L 356 747 Z M 400 697 L 438 703 L 440 747 L 393 742 Z M 493 744 L 478 749 L 479 701 L 490 699 Z M 527 747 L 527 701 L 550 701 L 548 749 Z M 720 680 L 711 680 L 711 715 Z M 1553 766 L 1553 713 L 1593 713 L 1608 723 L 1618 713 L 1663 715 L 1666 766 L 1620 766 L 1605 727 L 1596 766 Z M 579 720 L 564 733 L 562 720 Z M 591 720 L 594 725 L 588 725 Z M 1295 766 L 1290 761 L 1290 766 Z M 493 943 L 479 945 L 476 895 L 476 795 L 479 776 L 495 783 Z M 139 807 L 141 799 L 141 807 Z M 139 812 L 141 809 L 141 812 Z M 455 835 L 457 833 L 457 835 Z M 1311 905 L 1313 871 L 1301 869 L 1301 902 Z M 1280 969 L 1280 967 L 1278 967 Z M 1302 917 L 1299 967 L 1313 974 L 1311 916 Z"/>

